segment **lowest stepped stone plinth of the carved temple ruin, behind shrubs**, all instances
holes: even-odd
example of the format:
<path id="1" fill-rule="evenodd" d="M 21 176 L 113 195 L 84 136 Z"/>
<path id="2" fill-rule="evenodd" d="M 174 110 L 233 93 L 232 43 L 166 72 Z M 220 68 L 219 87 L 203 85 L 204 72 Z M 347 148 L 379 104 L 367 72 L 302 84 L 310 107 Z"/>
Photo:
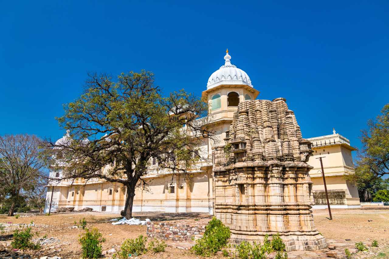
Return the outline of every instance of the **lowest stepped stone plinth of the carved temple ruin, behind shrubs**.
<path id="1" fill-rule="evenodd" d="M 285 234 L 285 233 L 284 233 Z M 320 234 L 316 235 L 280 235 L 282 241 L 286 245 L 286 251 L 312 251 L 320 250 L 327 247 L 326 239 Z M 272 240 L 272 236 L 269 236 L 269 240 Z M 229 243 L 232 245 L 238 245 L 242 241 L 249 243 L 263 243 L 263 236 L 248 236 L 231 234 Z"/>

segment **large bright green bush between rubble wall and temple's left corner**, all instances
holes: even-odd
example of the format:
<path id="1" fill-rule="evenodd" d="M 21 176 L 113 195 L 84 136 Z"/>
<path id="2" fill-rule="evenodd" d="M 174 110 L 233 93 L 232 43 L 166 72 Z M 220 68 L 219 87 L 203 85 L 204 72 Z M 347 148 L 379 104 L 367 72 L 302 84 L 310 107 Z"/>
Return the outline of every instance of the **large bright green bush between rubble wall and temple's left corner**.
<path id="1" fill-rule="evenodd" d="M 196 244 L 191 251 L 200 256 L 211 256 L 224 247 L 231 236 L 231 231 L 224 226 L 223 222 L 216 217 L 205 226 L 205 233 L 201 239 L 196 240 Z"/>

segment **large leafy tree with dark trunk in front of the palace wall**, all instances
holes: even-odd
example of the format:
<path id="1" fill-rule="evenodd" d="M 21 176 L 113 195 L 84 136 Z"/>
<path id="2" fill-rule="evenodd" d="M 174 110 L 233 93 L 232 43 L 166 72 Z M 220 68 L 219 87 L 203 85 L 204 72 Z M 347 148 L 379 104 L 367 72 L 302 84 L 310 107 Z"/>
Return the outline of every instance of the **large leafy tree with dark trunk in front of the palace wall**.
<path id="1" fill-rule="evenodd" d="M 93 178 L 126 189 L 124 215 L 132 216 L 138 184 L 156 159 L 159 170 L 185 175 L 200 159 L 198 144 L 209 137 L 207 105 L 183 90 L 163 97 L 154 75 L 142 70 L 118 76 L 89 74 L 82 95 L 64 106 L 62 143 L 50 142 L 63 179 Z M 66 166 L 65 166 L 66 165 Z M 112 165 L 108 170 L 102 170 Z"/>

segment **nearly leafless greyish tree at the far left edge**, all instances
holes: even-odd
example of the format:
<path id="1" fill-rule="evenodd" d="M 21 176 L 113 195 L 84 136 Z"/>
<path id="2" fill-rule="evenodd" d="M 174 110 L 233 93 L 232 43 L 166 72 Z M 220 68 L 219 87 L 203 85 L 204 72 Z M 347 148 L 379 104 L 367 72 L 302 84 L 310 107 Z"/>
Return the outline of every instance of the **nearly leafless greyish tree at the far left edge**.
<path id="1" fill-rule="evenodd" d="M 41 144 L 35 135 L 0 136 L 0 193 L 11 204 L 9 216 L 14 214 L 21 195 L 44 175 L 50 157 Z"/>

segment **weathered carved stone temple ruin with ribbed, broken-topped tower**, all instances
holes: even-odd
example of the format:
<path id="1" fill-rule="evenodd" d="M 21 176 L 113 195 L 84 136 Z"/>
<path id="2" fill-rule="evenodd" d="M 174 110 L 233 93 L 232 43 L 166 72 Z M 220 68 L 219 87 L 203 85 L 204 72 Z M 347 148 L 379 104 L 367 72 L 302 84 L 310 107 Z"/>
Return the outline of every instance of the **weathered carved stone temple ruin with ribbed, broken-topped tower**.
<path id="1" fill-rule="evenodd" d="M 326 247 L 310 210 L 311 143 L 286 100 L 239 103 L 224 140 L 214 149 L 214 208 L 231 229 L 231 243 L 279 233 L 288 251 Z"/>

